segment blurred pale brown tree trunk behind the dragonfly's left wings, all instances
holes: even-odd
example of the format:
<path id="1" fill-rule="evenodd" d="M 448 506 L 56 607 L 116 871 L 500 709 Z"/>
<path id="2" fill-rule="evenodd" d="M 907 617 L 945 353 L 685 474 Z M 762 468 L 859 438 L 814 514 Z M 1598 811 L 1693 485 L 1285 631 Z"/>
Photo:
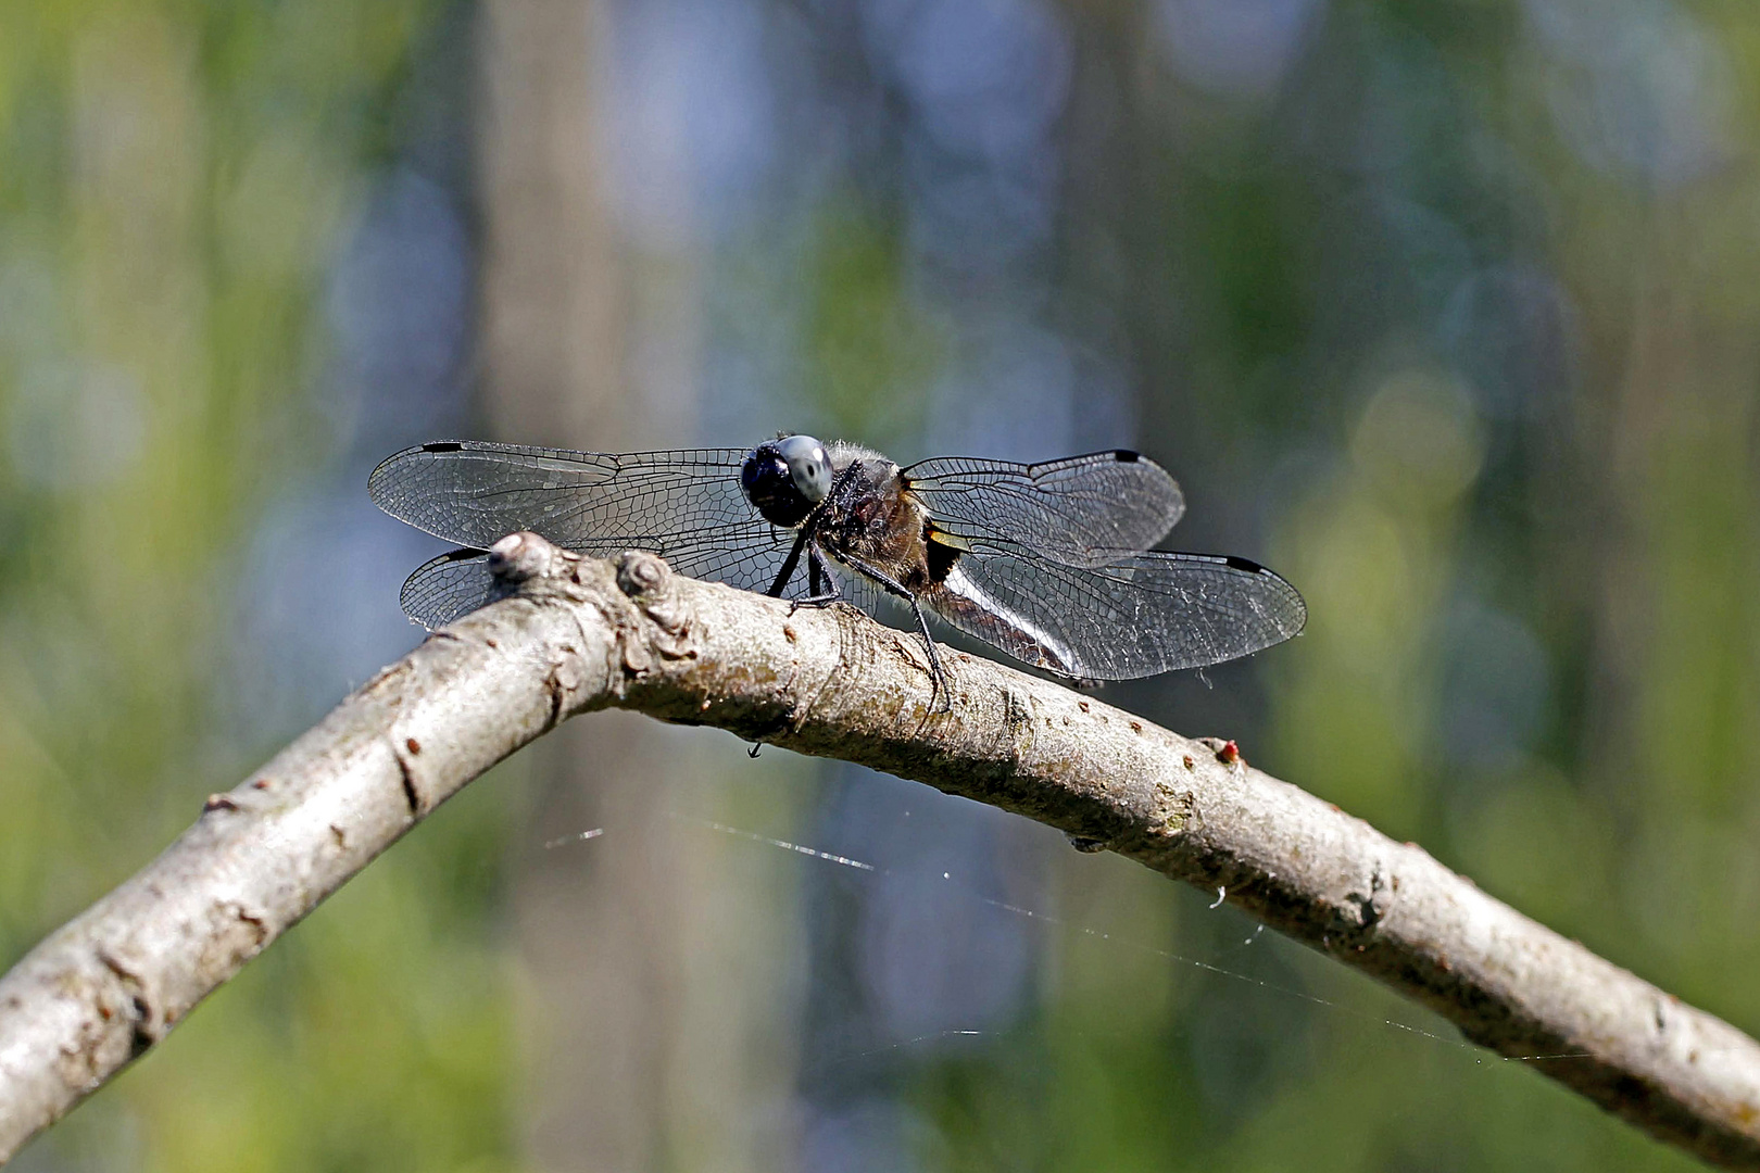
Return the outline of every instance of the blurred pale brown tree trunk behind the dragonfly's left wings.
<path id="1" fill-rule="evenodd" d="M 597 450 L 658 441 L 627 359 L 639 259 L 607 202 L 595 70 L 611 56 L 595 0 L 491 0 L 479 40 L 486 419 L 495 436 Z M 672 299 L 671 304 L 678 304 Z M 662 311 L 662 317 L 664 311 Z M 649 324 L 653 329 L 655 324 Z M 665 420 L 686 429 L 688 420 Z M 546 1169 L 662 1161 L 676 1073 L 685 886 L 664 786 L 678 733 L 634 714 L 561 730 L 537 760 L 514 863 L 528 1152 Z M 546 851 L 591 827 L 590 848 Z"/>

